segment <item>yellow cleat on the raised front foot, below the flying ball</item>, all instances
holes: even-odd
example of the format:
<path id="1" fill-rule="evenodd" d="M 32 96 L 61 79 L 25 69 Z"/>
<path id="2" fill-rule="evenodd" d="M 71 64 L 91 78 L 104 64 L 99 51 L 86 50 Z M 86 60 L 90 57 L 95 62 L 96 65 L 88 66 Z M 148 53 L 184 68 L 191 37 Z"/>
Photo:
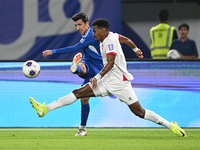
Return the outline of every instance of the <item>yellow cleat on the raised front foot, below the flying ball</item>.
<path id="1" fill-rule="evenodd" d="M 48 113 L 47 107 L 43 104 L 36 102 L 32 97 L 29 98 L 32 107 L 37 111 L 39 117 L 43 117 L 46 113 Z"/>

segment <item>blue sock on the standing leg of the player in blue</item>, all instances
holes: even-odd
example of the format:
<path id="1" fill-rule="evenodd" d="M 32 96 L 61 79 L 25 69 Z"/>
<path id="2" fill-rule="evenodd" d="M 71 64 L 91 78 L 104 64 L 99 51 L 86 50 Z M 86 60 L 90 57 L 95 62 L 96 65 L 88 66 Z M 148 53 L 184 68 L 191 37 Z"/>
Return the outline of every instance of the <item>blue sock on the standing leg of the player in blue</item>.
<path id="1" fill-rule="evenodd" d="M 89 104 L 81 105 L 81 125 L 86 126 L 87 119 L 88 119 L 88 116 L 89 116 L 89 112 L 90 112 L 90 105 Z"/>

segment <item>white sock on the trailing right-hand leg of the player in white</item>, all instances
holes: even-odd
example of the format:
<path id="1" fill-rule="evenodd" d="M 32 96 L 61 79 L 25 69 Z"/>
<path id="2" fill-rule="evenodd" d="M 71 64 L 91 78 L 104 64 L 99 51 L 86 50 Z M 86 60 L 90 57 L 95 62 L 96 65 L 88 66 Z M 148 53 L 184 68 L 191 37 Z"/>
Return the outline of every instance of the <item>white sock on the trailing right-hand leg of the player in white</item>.
<path id="1" fill-rule="evenodd" d="M 153 111 L 145 109 L 144 119 L 153 121 L 159 125 L 163 125 L 163 126 L 167 127 L 168 129 L 171 129 L 171 123 L 169 121 L 165 120 L 164 118 L 162 118 L 161 116 L 157 115 Z"/>

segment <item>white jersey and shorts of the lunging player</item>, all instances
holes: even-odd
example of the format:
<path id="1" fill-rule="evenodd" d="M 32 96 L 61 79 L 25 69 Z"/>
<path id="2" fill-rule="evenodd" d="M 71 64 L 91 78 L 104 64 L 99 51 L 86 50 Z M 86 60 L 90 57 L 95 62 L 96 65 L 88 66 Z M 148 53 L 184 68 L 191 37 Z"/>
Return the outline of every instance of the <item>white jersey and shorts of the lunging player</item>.
<path id="1" fill-rule="evenodd" d="M 120 101 L 131 105 L 137 102 L 138 99 L 131 86 L 130 80 L 133 79 L 133 76 L 127 71 L 126 60 L 119 43 L 119 38 L 118 34 L 109 32 L 104 41 L 100 43 L 104 66 L 108 63 L 107 55 L 116 55 L 115 63 L 113 68 L 97 81 L 95 89 L 92 88 L 91 82 L 89 85 L 95 96 L 115 95 Z"/>

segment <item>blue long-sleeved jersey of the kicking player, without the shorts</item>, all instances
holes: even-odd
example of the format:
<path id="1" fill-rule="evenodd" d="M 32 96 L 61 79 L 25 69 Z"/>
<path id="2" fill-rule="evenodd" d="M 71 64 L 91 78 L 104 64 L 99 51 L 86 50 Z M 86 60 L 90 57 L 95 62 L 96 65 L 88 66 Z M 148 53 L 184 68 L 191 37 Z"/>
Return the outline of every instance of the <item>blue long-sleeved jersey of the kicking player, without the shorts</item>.
<path id="1" fill-rule="evenodd" d="M 79 49 L 83 50 L 83 58 L 82 60 L 102 60 L 99 42 L 97 42 L 93 36 L 93 30 L 91 27 L 88 28 L 87 32 L 84 35 L 81 35 L 81 40 L 73 46 L 61 48 L 61 49 L 54 49 L 52 50 L 53 54 L 62 54 L 62 53 L 71 53 L 75 52 Z"/>

